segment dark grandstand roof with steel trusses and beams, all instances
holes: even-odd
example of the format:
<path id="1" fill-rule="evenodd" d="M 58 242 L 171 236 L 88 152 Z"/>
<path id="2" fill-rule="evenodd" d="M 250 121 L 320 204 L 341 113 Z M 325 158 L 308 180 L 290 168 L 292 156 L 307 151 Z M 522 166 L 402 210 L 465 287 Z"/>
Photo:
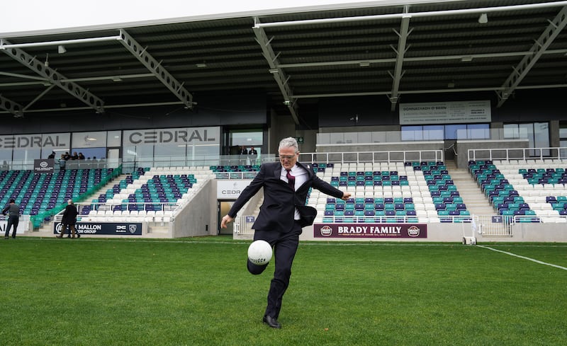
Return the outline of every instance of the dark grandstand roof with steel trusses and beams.
<path id="1" fill-rule="evenodd" d="M 331 97 L 395 110 L 408 95 L 494 91 L 500 106 L 567 86 L 566 13 L 567 1 L 381 1 L 14 33 L 0 37 L 0 115 L 242 91 L 296 122 Z"/>

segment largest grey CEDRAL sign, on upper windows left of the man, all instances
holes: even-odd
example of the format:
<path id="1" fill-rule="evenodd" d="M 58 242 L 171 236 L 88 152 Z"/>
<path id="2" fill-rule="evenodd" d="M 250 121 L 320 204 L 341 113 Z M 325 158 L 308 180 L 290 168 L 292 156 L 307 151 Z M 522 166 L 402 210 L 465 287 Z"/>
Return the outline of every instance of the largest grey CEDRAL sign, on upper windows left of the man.
<path id="1" fill-rule="evenodd" d="M 124 146 L 139 144 L 220 144 L 220 127 L 181 127 L 124 131 Z"/>

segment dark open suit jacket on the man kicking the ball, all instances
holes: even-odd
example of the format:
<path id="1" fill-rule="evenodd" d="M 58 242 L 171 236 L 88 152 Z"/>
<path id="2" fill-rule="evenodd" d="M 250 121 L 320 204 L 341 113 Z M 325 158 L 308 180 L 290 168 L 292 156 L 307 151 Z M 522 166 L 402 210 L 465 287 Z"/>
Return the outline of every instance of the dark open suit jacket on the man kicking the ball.
<path id="1" fill-rule="evenodd" d="M 340 198 L 343 195 L 341 190 L 332 187 L 329 183 L 318 178 L 313 173 L 311 165 L 303 166 L 297 163 L 308 173 L 307 180 L 296 191 L 293 191 L 288 183 L 280 179 L 281 163 L 264 163 L 260 166 L 260 171 L 242 193 L 237 198 L 228 216 L 234 218 L 237 212 L 260 190 L 264 188 L 264 202 L 260 207 L 260 212 L 256 221 L 252 225 L 253 229 L 260 231 L 278 231 L 286 233 L 293 228 L 293 215 L 295 208 L 300 214 L 300 224 L 302 227 L 313 224 L 317 216 L 317 209 L 305 205 L 309 188 L 315 188 L 321 192 Z"/>

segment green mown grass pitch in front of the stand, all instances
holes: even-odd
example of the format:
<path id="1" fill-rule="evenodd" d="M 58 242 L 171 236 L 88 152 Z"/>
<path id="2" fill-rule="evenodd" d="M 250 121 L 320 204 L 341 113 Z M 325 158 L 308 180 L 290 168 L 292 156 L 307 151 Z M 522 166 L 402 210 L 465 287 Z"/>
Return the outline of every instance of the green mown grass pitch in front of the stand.
<path id="1" fill-rule="evenodd" d="M 567 271 L 478 246 L 302 242 L 281 330 L 249 241 L 0 241 L 0 344 L 565 345 Z M 567 244 L 484 244 L 567 267 Z"/>

